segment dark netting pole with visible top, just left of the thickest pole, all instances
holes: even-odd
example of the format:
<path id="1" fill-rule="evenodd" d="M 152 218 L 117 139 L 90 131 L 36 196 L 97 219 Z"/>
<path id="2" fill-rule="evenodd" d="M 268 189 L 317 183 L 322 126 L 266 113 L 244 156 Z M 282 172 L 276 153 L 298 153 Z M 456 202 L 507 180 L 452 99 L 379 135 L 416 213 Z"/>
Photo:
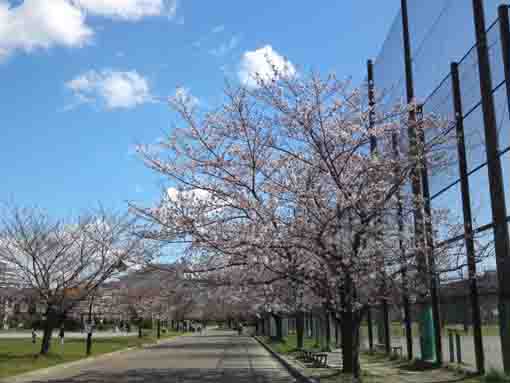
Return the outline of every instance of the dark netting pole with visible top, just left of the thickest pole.
<path id="1" fill-rule="evenodd" d="M 464 212 L 464 242 L 466 245 L 469 290 L 471 299 L 471 312 L 473 320 L 473 340 L 475 343 L 476 369 L 478 373 L 485 372 L 482 321 L 480 316 L 480 301 L 476 280 L 476 251 L 473 238 L 473 219 L 471 215 L 471 196 L 469 192 L 469 178 L 466 157 L 466 145 L 464 142 L 464 112 L 462 110 L 462 96 L 459 81 L 459 65 L 452 63 L 452 93 L 453 107 L 455 111 L 455 125 L 457 132 L 457 154 L 459 157 L 460 188 L 462 194 L 462 210 Z"/>

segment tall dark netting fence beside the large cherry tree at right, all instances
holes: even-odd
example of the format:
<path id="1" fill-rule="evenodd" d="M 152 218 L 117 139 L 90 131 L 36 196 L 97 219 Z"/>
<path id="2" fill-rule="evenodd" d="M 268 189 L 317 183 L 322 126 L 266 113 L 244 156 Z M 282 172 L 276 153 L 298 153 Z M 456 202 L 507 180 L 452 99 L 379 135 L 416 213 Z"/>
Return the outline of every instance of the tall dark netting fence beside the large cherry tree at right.
<path id="1" fill-rule="evenodd" d="M 494 235 L 502 227 L 495 220 L 495 204 L 496 211 L 505 208 L 497 196 L 502 194 L 506 206 L 510 206 L 509 88 L 505 77 L 510 57 L 504 56 L 510 53 L 504 48 L 505 37 L 510 36 L 504 20 L 508 8 L 499 8 L 498 14 L 502 1 L 483 2 L 485 20 L 490 23 L 481 39 L 475 28 L 480 24 L 475 20 L 479 22 L 483 16 L 473 6 L 476 3 L 481 1 L 404 0 L 407 12 L 401 10 L 396 16 L 374 63 L 373 80 L 378 102 L 391 106 L 405 101 L 410 98 L 411 87 L 424 116 L 434 121 L 425 130 L 424 144 L 433 148 L 430 155 L 437 157 L 434 167 L 427 168 L 423 182 L 429 186 L 428 203 L 433 213 L 434 251 L 430 256 L 435 266 L 430 271 L 432 280 L 437 277 L 439 282 L 440 302 L 436 305 L 439 316 L 434 318 L 440 318 L 440 323 L 433 325 L 436 333 L 441 329 L 442 359 L 480 369 L 484 356 L 482 369 L 484 365 L 508 370 L 504 355 L 510 358 L 510 349 L 503 352 L 501 347 L 501 333 L 508 332 L 508 327 L 501 321 L 498 308 L 503 289 L 498 277 L 505 271 L 501 270 L 501 258 L 510 254 L 501 252 L 501 246 L 508 251 L 508 243 L 501 245 L 501 238 Z M 409 37 L 408 51 L 405 36 Z M 480 56 L 485 47 L 488 65 Z M 451 65 L 453 62 L 457 64 Z M 508 68 L 506 73 L 510 74 Z M 493 116 L 490 102 L 494 105 Z M 491 121 L 497 131 L 497 151 L 494 140 L 487 138 Z M 502 186 L 496 179 L 498 166 Z M 407 355 L 408 344 L 412 343 L 413 356 L 426 357 L 422 354 L 425 334 L 420 328 L 422 332 L 427 329 L 423 323 L 418 326 L 417 318 L 430 303 L 428 295 L 425 301 L 411 304 L 410 334 L 403 325 L 403 302 L 389 309 L 373 307 L 370 320 L 362 327 L 362 346 L 370 346 L 371 333 L 373 347 L 387 350 L 384 343 L 389 341 L 393 351 L 401 347 Z M 385 337 L 388 331 L 390 337 Z M 410 335 L 408 341 L 406 335 Z M 438 343 L 434 346 L 437 352 Z"/>

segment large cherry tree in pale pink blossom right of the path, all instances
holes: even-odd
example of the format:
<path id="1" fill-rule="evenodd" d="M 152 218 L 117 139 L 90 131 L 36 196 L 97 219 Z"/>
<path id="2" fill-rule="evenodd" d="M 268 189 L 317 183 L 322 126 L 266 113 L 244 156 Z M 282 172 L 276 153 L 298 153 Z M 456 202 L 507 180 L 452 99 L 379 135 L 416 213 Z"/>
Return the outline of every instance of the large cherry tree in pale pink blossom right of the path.
<path id="1" fill-rule="evenodd" d="M 423 140 L 443 123 L 413 105 L 379 107 L 335 76 L 273 70 L 255 88 L 227 87 L 214 111 L 172 99 L 178 126 L 139 148 L 168 189 L 157 206 L 131 208 L 145 238 L 185 249 L 193 278 L 252 313 L 334 313 L 343 368 L 358 377 L 366 310 L 424 297 L 440 269 L 459 267 L 446 248 L 430 267 L 432 215 L 411 192 L 426 167 L 449 166 L 441 142 Z M 437 232 L 458 229 L 438 213 Z"/>

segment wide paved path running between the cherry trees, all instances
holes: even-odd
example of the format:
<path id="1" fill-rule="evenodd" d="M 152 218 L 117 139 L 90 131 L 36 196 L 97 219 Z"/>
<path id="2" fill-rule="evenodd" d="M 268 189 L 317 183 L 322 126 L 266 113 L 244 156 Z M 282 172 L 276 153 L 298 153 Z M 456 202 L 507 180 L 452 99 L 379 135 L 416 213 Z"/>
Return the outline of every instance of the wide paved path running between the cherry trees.
<path id="1" fill-rule="evenodd" d="M 31 382 L 290 383 L 294 379 L 254 339 L 233 332 L 180 337 Z"/>

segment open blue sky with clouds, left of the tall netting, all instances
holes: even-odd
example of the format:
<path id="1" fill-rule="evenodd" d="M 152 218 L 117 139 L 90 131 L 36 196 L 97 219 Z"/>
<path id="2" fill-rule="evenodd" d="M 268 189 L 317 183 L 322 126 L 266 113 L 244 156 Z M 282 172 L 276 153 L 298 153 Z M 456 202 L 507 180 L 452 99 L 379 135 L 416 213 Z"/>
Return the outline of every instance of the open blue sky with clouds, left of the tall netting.
<path id="1" fill-rule="evenodd" d="M 0 201 L 55 214 L 156 201 L 133 154 L 171 129 L 156 98 L 182 87 L 212 106 L 268 51 L 359 83 L 399 3 L 0 0 Z"/>

